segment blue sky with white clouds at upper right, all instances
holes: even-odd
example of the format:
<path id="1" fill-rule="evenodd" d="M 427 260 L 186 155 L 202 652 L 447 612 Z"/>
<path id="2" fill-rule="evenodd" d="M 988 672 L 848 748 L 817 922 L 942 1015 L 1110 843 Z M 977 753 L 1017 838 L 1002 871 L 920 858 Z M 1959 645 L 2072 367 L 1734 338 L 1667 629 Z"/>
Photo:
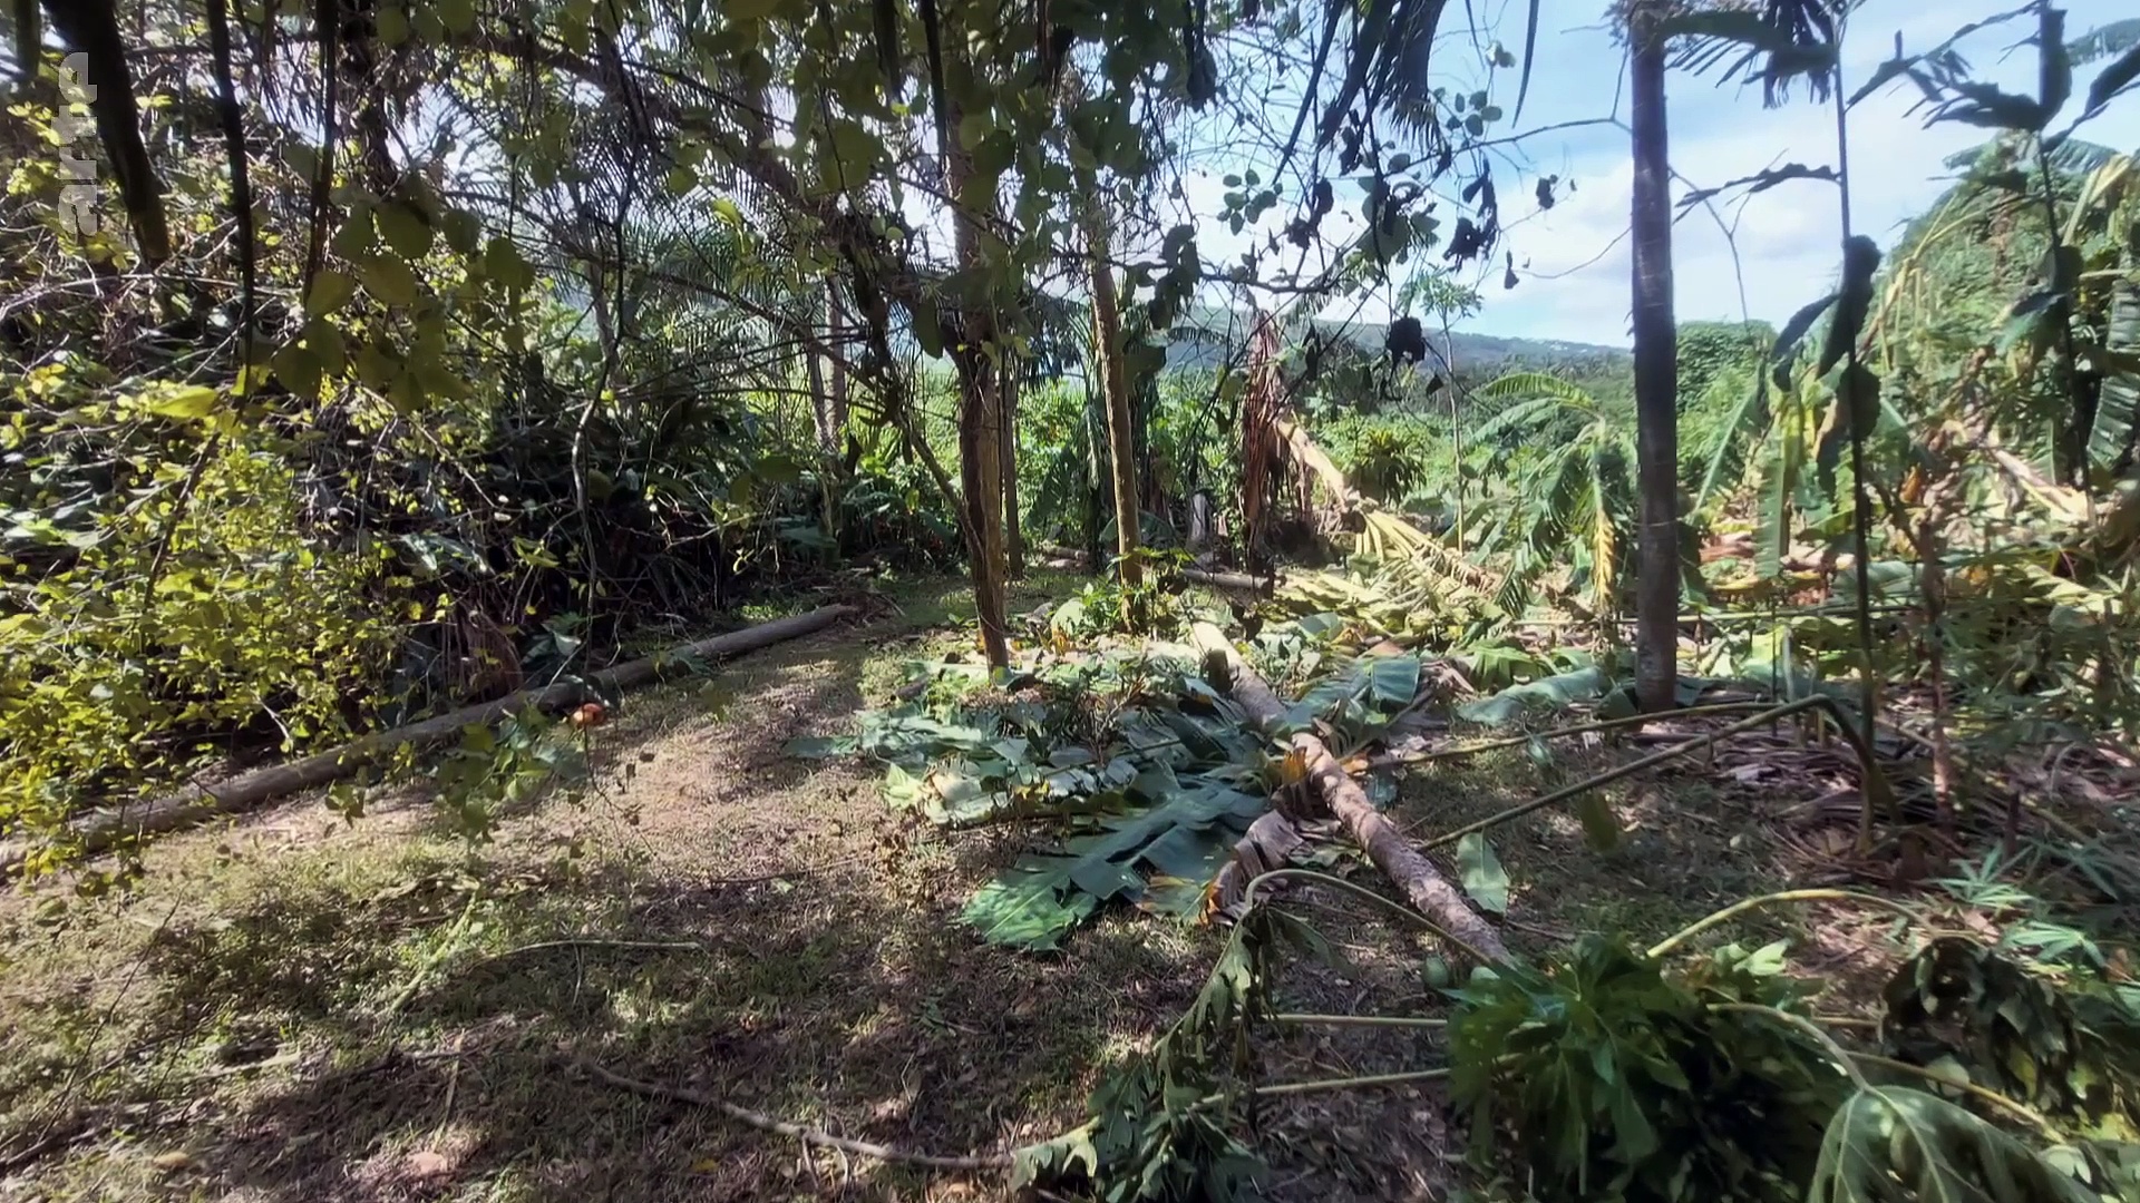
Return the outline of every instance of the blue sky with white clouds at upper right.
<path id="1" fill-rule="evenodd" d="M 1907 51 L 1922 51 L 1958 26 L 1997 11 L 2001 4 L 1988 0 L 1868 0 L 1851 17 L 1845 75 L 1866 79 L 1892 54 L 1896 30 Z M 2067 34 L 2078 36 L 2127 15 L 2129 0 L 2074 0 L 2067 4 Z M 1519 21 L 1515 9 L 1496 28 L 1515 41 L 1511 30 L 1519 30 Z M 1965 58 L 2001 88 L 2035 92 L 2033 47 L 2009 51 L 2031 30 L 2031 21 L 2012 21 L 1973 34 L 1962 45 Z M 1537 60 L 1522 128 L 1596 118 L 1614 109 L 1624 64 L 1603 24 L 1599 0 L 1545 0 Z M 2069 113 L 2080 109 L 2078 96 L 2095 66 L 2080 68 Z M 1695 184 L 1723 184 L 1789 161 L 1821 165 L 1834 156 L 1834 116 L 1825 105 L 1800 98 L 1783 109 L 1763 109 L 1759 88 L 1718 88 L 1684 73 L 1673 73 L 1669 96 L 1671 163 Z M 1900 225 L 1945 188 L 1947 171 L 1941 161 L 1984 141 L 1984 131 L 1971 126 L 1924 128 L 1922 116 L 1907 111 L 1913 98 L 1913 88 L 1890 88 L 1851 111 L 1855 229 L 1881 246 L 1890 246 Z M 1626 116 L 1624 98 L 1620 116 Z M 2140 94 L 2112 103 L 2078 137 L 2140 150 Z M 1620 235 L 1626 231 L 1631 178 L 1626 135 L 1611 126 L 1549 133 L 1526 139 L 1519 158 L 1526 163 L 1526 186 L 1502 188 L 1502 220 L 1511 227 L 1509 248 L 1515 250 L 1524 280 L 1513 291 L 1502 291 L 1496 268 L 1483 285 L 1485 313 L 1466 325 L 1494 334 L 1624 345 L 1629 250 Z M 1562 195 L 1552 212 L 1539 212 L 1528 188 L 1534 173 L 1573 178 L 1577 191 Z M 1725 216 L 1738 223 L 1744 313 L 1783 321 L 1828 289 L 1840 233 L 1832 186 L 1785 184 L 1751 197 L 1742 208 L 1731 205 Z M 1731 246 L 1712 218 L 1701 212 L 1686 216 L 1678 227 L 1673 255 L 1682 321 L 1740 317 Z"/>

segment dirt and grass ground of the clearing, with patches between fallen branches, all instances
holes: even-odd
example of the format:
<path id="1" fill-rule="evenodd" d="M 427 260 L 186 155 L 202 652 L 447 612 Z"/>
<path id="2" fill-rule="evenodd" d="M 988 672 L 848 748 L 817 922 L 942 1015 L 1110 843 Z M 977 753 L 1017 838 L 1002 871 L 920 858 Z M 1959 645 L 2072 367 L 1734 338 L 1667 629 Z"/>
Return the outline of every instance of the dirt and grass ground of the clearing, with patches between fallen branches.
<path id="1" fill-rule="evenodd" d="M 1040 578 L 1017 604 L 1066 587 Z M 905 657 L 957 649 L 957 593 L 725 666 L 717 689 L 631 696 L 593 741 L 595 792 L 509 813 L 473 856 L 413 794 L 355 822 L 302 798 L 156 843 L 122 897 L 47 884 L 0 901 L 0 1199 L 1006 1197 L 997 1173 L 805 1149 L 578 1068 L 997 1154 L 1079 1124 L 1096 1075 L 1190 1002 L 1220 933 L 1115 912 L 1059 957 L 987 948 L 954 916 L 1019 831 L 942 835 L 895 816 L 875 768 L 781 753 L 882 704 Z M 1447 828 L 1584 756 L 1415 773 L 1395 807 Z M 1665 822 L 1661 788 L 1695 820 Z M 1498 835 L 1511 944 L 1656 938 L 1787 882 L 1768 843 L 1733 837 L 1746 803 L 1703 790 L 1691 775 L 1609 794 L 1633 826 L 1614 854 L 1554 811 Z M 1288 968 L 1280 1010 L 1434 1012 L 1423 935 L 1338 899 L 1297 905 L 1342 961 Z M 1838 976 L 1887 959 L 1849 914 L 1751 933 L 1795 933 Z M 1417 1030 L 1290 1030 L 1263 1055 L 1273 1081 L 1438 1064 Z M 1462 1152 L 1449 1124 L 1432 1085 L 1267 1107 L 1267 1194 L 1440 1199 Z"/>

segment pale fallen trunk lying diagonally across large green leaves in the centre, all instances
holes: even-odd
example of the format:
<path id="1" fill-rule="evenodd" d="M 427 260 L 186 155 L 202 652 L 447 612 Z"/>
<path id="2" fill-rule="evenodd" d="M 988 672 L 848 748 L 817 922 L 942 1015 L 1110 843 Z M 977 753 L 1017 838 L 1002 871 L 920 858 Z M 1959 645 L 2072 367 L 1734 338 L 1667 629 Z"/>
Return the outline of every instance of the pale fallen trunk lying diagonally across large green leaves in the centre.
<path id="1" fill-rule="evenodd" d="M 1205 653 L 1224 655 L 1228 681 L 1233 685 L 1233 700 L 1248 711 L 1250 721 L 1258 728 L 1273 728 L 1284 719 L 1286 706 L 1278 700 L 1278 694 L 1256 676 L 1252 668 L 1233 651 L 1233 642 L 1224 631 L 1211 623 L 1196 623 L 1190 627 L 1190 642 Z M 1312 732 L 1297 732 L 1288 747 L 1308 762 L 1308 781 L 1314 783 L 1316 794 L 1329 805 L 1331 813 L 1346 826 L 1352 841 L 1361 846 L 1367 861 L 1374 863 L 1397 890 L 1404 895 L 1415 910 L 1438 923 L 1449 935 L 1462 940 L 1485 957 L 1507 959 L 1509 946 L 1500 942 L 1500 933 L 1479 916 L 1466 901 L 1464 895 L 1451 886 L 1432 861 L 1425 858 L 1397 824 L 1389 822 L 1382 811 L 1374 809 L 1367 801 L 1367 792 L 1359 788 L 1346 771 L 1331 756 L 1331 749 Z"/>

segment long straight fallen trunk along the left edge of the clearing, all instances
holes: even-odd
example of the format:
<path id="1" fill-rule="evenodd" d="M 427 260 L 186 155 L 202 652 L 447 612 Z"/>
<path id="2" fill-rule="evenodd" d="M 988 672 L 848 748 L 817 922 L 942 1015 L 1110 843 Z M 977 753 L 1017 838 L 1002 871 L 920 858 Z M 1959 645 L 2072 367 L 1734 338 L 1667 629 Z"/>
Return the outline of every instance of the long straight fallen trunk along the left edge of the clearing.
<path id="1" fill-rule="evenodd" d="M 340 781 L 342 777 L 357 773 L 366 764 L 383 760 L 400 747 L 428 747 L 443 743 L 458 736 L 464 728 L 488 726 L 531 706 L 537 711 L 578 706 L 580 702 L 603 694 L 633 689 L 676 674 L 678 668 L 687 668 L 693 661 L 728 659 L 792 640 L 796 636 L 822 631 L 854 612 L 854 606 L 824 606 L 820 610 L 811 610 L 809 614 L 775 619 L 770 623 L 689 642 L 642 659 L 627 659 L 614 668 L 588 674 L 584 681 L 559 681 L 554 685 L 520 689 L 499 698 L 496 702 L 479 702 L 419 724 L 372 732 L 345 743 L 342 747 L 306 756 L 302 760 L 255 768 L 253 773 L 244 773 L 214 786 L 186 786 L 175 794 L 167 794 L 150 803 L 92 811 L 68 824 L 73 833 L 73 848 L 86 854 L 105 852 L 126 839 L 193 826 L 216 816 L 248 811 L 300 790 L 312 790 L 330 781 Z M 36 854 L 36 850 L 39 843 L 34 841 L 0 846 L 0 875 L 17 873 L 28 858 Z"/>

